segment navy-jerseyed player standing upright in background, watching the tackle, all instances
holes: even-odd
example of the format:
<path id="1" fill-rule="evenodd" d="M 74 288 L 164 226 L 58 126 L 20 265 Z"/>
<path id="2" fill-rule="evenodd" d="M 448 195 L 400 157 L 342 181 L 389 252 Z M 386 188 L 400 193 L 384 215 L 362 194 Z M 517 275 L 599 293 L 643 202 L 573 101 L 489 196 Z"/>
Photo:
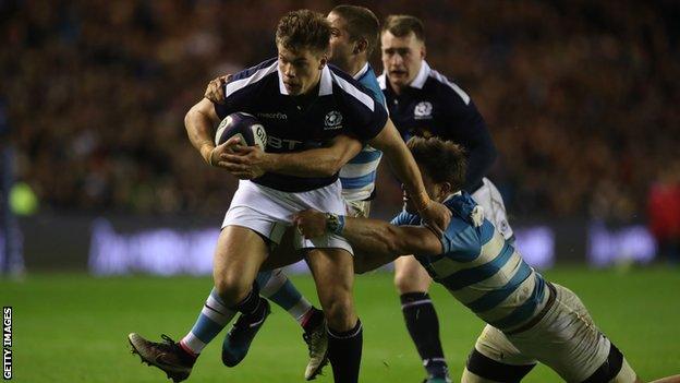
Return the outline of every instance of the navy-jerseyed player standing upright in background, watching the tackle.
<path id="1" fill-rule="evenodd" d="M 437 136 L 464 147 L 470 166 L 463 189 L 485 207 L 503 236 L 511 239 L 502 198 L 484 178 L 497 155 L 491 136 L 470 96 L 425 61 L 423 23 L 410 15 L 388 16 L 380 41 L 384 74 L 378 82 L 397 129 L 404 140 L 414 135 Z M 406 327 L 428 379 L 447 381 L 439 321 L 427 294 L 430 284 L 432 278 L 413 256 L 394 262 L 394 285 Z"/>

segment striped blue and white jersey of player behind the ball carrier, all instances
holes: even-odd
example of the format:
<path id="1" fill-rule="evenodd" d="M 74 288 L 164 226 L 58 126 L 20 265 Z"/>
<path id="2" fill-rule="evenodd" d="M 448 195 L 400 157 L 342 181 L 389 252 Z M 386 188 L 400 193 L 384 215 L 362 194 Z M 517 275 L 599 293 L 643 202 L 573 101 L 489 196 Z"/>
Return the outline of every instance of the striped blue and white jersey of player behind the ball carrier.
<path id="1" fill-rule="evenodd" d="M 376 101 L 382 104 L 387 110 L 385 95 L 373 68 L 368 63 L 354 75 L 354 80 L 368 88 Z M 364 201 L 371 198 L 375 190 L 376 172 L 381 157 L 382 152 L 364 145 L 362 151 L 340 169 L 342 196 L 347 201 Z"/>

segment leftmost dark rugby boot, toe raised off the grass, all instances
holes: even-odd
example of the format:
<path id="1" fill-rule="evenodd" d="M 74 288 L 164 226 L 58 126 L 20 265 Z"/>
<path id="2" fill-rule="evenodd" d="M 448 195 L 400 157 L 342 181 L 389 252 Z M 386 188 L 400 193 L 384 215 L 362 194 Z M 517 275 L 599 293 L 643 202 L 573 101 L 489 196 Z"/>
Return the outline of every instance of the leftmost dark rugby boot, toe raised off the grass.
<path id="1" fill-rule="evenodd" d="M 137 333 L 131 333 L 127 340 L 132 346 L 132 354 L 138 355 L 143 363 L 162 370 L 174 383 L 186 380 L 196 357 L 186 352 L 168 335 L 162 334 L 160 337 L 163 342 L 156 343 L 145 339 Z"/>

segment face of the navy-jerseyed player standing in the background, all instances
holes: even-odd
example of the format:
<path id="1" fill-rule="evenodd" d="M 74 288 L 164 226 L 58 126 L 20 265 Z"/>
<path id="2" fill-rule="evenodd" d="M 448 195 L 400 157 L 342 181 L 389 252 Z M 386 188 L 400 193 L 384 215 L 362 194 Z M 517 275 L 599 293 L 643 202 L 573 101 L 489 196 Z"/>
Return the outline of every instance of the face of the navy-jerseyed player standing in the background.
<path id="1" fill-rule="evenodd" d="M 390 84 L 399 88 L 408 86 L 417 75 L 425 58 L 425 45 L 410 33 L 397 37 L 389 31 L 380 36 L 382 68 Z"/>

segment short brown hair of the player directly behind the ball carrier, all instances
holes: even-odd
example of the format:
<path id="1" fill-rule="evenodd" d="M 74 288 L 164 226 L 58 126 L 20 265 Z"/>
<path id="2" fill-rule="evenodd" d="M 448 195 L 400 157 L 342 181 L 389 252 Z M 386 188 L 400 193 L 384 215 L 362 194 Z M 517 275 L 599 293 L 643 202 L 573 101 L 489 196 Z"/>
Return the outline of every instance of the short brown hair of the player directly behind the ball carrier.
<path id="1" fill-rule="evenodd" d="M 380 35 L 380 22 L 369 9 L 365 7 L 342 4 L 333 8 L 330 13 L 336 13 L 347 24 L 347 32 L 350 40 L 359 41 L 362 38 L 366 40 L 366 52 L 368 56 L 378 45 Z"/>

